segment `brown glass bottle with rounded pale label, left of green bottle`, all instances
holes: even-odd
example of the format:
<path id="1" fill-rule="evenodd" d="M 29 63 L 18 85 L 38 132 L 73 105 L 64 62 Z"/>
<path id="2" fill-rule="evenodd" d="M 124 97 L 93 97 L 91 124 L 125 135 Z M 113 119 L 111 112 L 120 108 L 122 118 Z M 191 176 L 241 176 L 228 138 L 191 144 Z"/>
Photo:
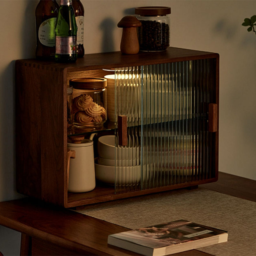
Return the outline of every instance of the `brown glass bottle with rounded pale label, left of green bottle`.
<path id="1" fill-rule="evenodd" d="M 59 5 L 56 0 L 40 0 L 36 6 L 36 58 L 54 59 L 55 23 Z"/>

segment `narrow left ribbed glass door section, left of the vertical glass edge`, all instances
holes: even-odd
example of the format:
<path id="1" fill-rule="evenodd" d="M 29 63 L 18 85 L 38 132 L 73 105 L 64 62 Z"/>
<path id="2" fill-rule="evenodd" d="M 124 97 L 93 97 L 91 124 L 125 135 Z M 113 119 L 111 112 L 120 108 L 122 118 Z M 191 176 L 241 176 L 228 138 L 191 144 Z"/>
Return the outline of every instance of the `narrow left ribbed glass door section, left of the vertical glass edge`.
<path id="1" fill-rule="evenodd" d="M 127 142 L 118 138 L 118 116 L 127 118 Z M 141 67 L 115 70 L 116 192 L 140 189 Z M 121 145 L 120 145 L 121 144 Z"/>

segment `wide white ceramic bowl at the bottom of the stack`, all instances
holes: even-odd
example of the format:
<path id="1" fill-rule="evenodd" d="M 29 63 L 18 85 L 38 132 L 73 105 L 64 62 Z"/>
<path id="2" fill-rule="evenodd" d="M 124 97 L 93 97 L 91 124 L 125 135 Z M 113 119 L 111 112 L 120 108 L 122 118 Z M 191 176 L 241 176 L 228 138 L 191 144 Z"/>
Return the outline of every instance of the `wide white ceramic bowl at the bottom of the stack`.
<path id="1" fill-rule="evenodd" d="M 115 175 L 116 170 L 116 175 Z M 101 164 L 95 164 L 95 177 L 108 185 L 132 186 L 140 182 L 140 165 L 115 167 Z"/>

